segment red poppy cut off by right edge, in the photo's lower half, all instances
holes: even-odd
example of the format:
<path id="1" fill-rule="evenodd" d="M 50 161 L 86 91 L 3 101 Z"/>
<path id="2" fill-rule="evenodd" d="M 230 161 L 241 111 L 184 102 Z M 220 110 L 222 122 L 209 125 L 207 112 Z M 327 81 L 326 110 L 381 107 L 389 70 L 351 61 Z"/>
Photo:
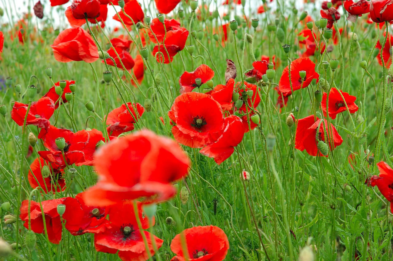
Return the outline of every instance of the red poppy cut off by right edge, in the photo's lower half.
<path id="1" fill-rule="evenodd" d="M 379 176 L 373 175 L 369 183 L 371 186 L 377 186 L 379 191 L 390 202 L 390 212 L 393 213 L 393 170 L 384 161 L 376 164 L 379 170 Z"/>

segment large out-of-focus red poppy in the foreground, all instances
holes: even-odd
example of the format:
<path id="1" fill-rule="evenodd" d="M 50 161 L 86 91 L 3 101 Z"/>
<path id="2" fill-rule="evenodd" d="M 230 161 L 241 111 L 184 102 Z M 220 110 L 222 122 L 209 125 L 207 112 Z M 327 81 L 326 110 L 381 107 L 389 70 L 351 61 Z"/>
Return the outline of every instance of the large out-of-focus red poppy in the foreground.
<path id="1" fill-rule="evenodd" d="M 86 204 L 107 206 L 125 199 L 167 200 L 173 181 L 187 175 L 190 162 L 171 139 L 143 130 L 111 141 L 95 153 L 98 182 L 84 194 Z"/>

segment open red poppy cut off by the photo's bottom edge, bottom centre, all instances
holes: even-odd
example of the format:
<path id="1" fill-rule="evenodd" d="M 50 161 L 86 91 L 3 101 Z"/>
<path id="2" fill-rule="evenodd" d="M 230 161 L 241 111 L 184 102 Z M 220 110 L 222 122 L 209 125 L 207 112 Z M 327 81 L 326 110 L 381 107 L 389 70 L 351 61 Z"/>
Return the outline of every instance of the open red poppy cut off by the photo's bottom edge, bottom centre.
<path id="1" fill-rule="evenodd" d="M 222 261 L 228 253 L 228 237 L 218 226 L 194 226 L 177 234 L 171 242 L 171 250 L 176 254 L 171 261 L 185 261 L 182 237 L 187 242 L 190 259 L 201 261 Z"/>

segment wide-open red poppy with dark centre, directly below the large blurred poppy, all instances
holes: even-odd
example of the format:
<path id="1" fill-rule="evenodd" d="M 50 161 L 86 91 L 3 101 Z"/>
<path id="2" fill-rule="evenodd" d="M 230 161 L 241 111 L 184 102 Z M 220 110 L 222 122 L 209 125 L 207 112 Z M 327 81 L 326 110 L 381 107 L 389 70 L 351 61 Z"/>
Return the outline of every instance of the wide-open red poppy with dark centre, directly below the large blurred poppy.
<path id="1" fill-rule="evenodd" d="M 149 219 L 142 214 L 142 204 L 138 204 L 138 214 L 134 212 L 134 203 L 132 201 L 123 201 L 116 204 L 109 211 L 110 228 L 94 236 L 95 250 L 118 255 L 121 260 L 144 261 L 154 256 L 152 241 L 155 241 L 157 248 L 162 246 L 163 240 L 155 235 L 140 230 L 136 221 L 136 215 L 139 215 L 143 229 L 149 228 Z M 154 225 L 154 217 L 152 219 Z M 147 238 L 148 249 L 143 241 L 142 233 Z"/>

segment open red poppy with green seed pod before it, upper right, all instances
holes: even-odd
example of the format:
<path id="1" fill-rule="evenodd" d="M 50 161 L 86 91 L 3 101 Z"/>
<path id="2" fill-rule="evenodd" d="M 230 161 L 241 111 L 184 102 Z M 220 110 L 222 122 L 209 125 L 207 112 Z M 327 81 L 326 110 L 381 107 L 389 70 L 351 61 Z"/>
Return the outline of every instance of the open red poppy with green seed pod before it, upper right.
<path id="1" fill-rule="evenodd" d="M 299 76 L 299 71 L 306 71 L 306 77 L 303 79 Z M 301 87 L 306 88 L 310 85 L 312 79 L 319 80 L 319 74 L 315 72 L 315 64 L 310 58 L 298 58 L 291 62 L 291 82 L 294 91 L 299 90 Z M 302 86 L 303 82 L 303 86 Z M 289 69 L 288 66 L 283 71 L 280 81 L 278 83 L 279 90 L 284 96 L 292 94 L 289 82 Z"/>

